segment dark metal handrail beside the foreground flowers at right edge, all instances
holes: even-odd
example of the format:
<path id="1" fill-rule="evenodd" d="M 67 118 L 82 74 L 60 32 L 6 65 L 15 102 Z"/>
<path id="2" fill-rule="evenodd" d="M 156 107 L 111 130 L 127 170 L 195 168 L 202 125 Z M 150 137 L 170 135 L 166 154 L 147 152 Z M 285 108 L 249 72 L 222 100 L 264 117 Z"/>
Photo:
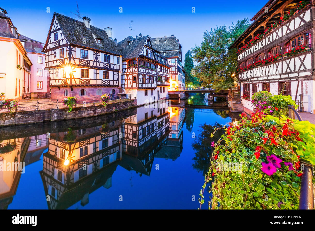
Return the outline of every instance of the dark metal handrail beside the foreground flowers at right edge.
<path id="1" fill-rule="evenodd" d="M 288 105 L 289 109 L 289 118 L 295 119 L 297 116 L 299 121 L 303 121 L 300 114 L 295 110 L 293 105 Z M 315 193 L 313 189 L 312 175 L 314 174 L 313 165 L 309 162 L 301 161 L 301 166 L 304 166 L 302 169 L 301 176 L 301 190 L 300 190 L 300 200 L 299 200 L 299 209 L 314 209 L 315 203 Z"/>

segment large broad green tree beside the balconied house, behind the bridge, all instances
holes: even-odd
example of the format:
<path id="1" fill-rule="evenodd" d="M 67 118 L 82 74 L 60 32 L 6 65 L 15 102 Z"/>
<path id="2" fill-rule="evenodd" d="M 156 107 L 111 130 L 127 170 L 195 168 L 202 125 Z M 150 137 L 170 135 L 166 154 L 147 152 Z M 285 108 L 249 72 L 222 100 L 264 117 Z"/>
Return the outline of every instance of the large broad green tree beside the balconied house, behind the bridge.
<path id="1" fill-rule="evenodd" d="M 237 24 L 227 28 L 216 27 L 203 33 L 200 46 L 192 48 L 192 57 L 198 65 L 195 68 L 202 86 L 219 91 L 234 85 L 232 75 L 238 68 L 237 51 L 230 49 L 232 43 L 250 25 L 248 18 L 238 20 Z"/>

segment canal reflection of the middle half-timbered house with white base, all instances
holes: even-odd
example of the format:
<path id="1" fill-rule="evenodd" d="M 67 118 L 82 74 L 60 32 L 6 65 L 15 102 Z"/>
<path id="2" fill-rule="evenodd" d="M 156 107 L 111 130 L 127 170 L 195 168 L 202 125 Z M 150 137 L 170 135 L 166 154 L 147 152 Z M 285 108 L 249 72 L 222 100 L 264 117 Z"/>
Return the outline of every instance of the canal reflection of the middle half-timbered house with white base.
<path id="1" fill-rule="evenodd" d="M 119 163 L 127 170 L 150 175 L 153 159 L 159 144 L 167 139 L 169 126 L 168 107 L 137 108 L 137 114 L 127 118 L 122 125 L 122 154 Z"/>

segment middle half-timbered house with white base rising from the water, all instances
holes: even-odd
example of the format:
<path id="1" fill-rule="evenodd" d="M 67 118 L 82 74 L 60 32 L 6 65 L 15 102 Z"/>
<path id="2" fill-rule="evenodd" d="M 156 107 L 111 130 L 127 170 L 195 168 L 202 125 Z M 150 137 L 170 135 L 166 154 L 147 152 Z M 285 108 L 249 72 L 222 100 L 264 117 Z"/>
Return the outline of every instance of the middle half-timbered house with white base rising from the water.
<path id="1" fill-rule="evenodd" d="M 138 105 L 168 98 L 169 65 L 149 36 L 128 36 L 117 43 L 123 54 L 122 88 L 136 94 Z"/>

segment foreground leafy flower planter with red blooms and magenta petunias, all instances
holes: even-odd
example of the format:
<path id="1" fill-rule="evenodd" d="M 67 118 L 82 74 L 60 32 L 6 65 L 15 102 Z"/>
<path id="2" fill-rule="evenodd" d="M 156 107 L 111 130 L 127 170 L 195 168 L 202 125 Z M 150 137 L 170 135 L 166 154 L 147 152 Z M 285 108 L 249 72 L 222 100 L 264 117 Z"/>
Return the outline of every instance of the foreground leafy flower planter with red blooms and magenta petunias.
<path id="1" fill-rule="evenodd" d="M 203 184 L 204 190 L 213 181 L 209 209 L 297 209 L 300 161 L 315 165 L 315 125 L 257 112 L 251 118 L 242 113 L 238 124 L 221 129 L 225 133 L 212 142 L 215 149 Z"/>

